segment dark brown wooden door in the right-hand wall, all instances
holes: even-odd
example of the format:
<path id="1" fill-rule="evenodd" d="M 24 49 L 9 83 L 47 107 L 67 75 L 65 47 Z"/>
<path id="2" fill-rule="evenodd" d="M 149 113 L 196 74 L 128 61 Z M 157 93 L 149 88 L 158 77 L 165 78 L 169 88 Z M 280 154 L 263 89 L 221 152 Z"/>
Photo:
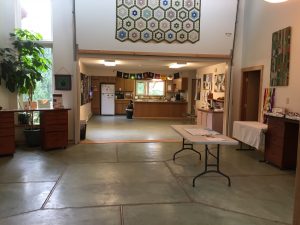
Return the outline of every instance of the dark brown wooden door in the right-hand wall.
<path id="1" fill-rule="evenodd" d="M 242 69 L 241 115 L 242 121 L 261 120 L 261 89 L 263 66 Z"/>

